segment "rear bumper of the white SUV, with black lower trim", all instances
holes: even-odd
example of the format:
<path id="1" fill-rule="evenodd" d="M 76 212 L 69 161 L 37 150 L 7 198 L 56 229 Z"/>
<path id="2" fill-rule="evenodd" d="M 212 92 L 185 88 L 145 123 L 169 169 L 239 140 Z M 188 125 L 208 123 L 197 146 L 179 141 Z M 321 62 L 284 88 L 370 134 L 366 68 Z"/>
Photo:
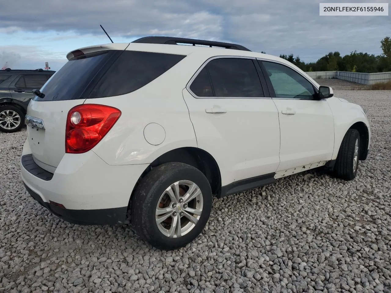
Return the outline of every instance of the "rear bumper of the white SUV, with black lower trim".
<path id="1" fill-rule="evenodd" d="M 25 143 L 22 157 L 30 153 Z M 132 190 L 147 166 L 110 166 L 92 151 L 65 154 L 52 178 L 44 180 L 20 163 L 22 180 L 32 197 L 68 222 L 82 224 L 122 222 Z M 101 219 L 91 218 L 94 215 Z"/>

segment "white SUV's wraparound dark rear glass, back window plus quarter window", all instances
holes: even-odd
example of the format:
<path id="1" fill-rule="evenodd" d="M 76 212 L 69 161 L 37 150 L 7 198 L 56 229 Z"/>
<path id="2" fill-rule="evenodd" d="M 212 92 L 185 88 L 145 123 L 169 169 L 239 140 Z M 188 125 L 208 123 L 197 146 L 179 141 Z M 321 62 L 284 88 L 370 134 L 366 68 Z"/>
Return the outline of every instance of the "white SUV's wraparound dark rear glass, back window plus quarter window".
<path id="1" fill-rule="evenodd" d="M 184 55 L 108 50 L 68 61 L 34 100 L 101 98 L 131 93 L 156 79 Z"/>

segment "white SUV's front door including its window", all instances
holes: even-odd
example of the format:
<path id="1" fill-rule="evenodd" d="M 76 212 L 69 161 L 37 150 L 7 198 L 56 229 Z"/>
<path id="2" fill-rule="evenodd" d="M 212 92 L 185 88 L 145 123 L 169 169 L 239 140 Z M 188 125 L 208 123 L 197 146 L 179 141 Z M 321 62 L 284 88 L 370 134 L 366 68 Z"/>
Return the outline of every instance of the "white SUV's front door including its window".
<path id="1" fill-rule="evenodd" d="M 273 89 L 280 119 L 280 166 L 277 171 L 328 161 L 334 150 L 334 119 L 327 100 L 298 71 L 273 61 L 262 62 Z"/>

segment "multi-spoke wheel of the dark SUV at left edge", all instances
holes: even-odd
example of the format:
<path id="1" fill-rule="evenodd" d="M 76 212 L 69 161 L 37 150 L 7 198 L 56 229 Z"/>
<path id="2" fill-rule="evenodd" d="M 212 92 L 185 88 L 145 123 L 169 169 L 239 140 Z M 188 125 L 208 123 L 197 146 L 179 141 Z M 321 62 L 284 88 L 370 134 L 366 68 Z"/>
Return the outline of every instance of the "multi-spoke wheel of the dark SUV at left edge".
<path id="1" fill-rule="evenodd" d="M 24 125 L 25 115 L 22 110 L 13 105 L 0 106 L 0 130 L 16 132 Z"/>

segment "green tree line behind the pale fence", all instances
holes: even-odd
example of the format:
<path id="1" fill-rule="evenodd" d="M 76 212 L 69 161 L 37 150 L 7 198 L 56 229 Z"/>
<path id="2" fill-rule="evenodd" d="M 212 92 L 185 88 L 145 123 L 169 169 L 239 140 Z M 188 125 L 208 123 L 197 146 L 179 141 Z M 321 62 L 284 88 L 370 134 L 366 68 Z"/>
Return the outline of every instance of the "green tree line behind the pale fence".
<path id="1" fill-rule="evenodd" d="M 280 57 L 295 64 L 303 71 L 353 71 L 353 72 L 387 72 L 391 71 L 391 38 L 380 41 L 381 55 L 362 52 L 351 52 L 341 56 L 339 52 L 330 52 L 316 62 L 305 63 L 299 56 L 281 54 Z"/>

